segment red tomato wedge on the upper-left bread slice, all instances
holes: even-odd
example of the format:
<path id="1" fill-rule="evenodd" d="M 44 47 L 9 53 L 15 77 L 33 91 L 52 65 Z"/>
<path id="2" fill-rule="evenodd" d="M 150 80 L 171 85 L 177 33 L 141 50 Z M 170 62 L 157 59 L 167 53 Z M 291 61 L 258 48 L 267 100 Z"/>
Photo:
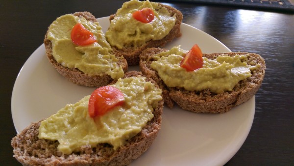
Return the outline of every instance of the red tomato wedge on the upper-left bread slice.
<path id="1" fill-rule="evenodd" d="M 91 45 L 94 42 L 97 42 L 94 34 L 80 23 L 73 26 L 71 38 L 73 43 L 78 46 Z"/>

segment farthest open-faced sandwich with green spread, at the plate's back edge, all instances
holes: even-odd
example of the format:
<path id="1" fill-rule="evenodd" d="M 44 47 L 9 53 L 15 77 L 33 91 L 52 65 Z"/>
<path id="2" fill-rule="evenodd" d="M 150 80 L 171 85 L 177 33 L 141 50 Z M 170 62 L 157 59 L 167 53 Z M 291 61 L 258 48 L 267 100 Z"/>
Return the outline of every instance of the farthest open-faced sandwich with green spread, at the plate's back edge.
<path id="1" fill-rule="evenodd" d="M 134 13 L 139 13 L 138 20 Z M 146 48 L 163 47 L 174 38 L 181 37 L 182 20 L 182 13 L 171 6 L 149 0 L 130 0 L 110 16 L 105 36 L 128 65 L 138 65 L 139 55 Z"/>

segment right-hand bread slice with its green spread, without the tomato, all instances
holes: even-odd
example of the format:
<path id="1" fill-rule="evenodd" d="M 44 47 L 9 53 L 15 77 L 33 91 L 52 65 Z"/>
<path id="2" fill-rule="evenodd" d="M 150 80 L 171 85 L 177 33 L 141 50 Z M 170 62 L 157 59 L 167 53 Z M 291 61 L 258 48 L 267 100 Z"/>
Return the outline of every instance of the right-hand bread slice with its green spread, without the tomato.
<path id="1" fill-rule="evenodd" d="M 255 53 L 203 53 L 203 58 L 206 58 L 203 67 L 209 66 L 206 61 L 211 61 L 212 66 L 216 66 L 208 67 L 212 69 L 186 71 L 181 69 L 180 63 L 187 52 L 179 47 L 173 47 L 171 50 L 148 48 L 140 55 L 142 73 L 157 82 L 163 91 L 164 102 L 170 108 L 175 102 L 182 109 L 196 113 L 227 112 L 255 95 L 265 76 L 265 61 Z M 216 61 L 219 56 L 227 60 Z M 236 61 L 236 64 L 240 65 L 232 68 L 235 64 L 230 62 L 233 57 L 240 59 L 237 58 Z M 164 64 L 165 62 L 172 62 L 172 65 Z M 239 72 L 244 71 L 243 78 L 238 80 Z M 231 79 L 234 77 L 237 77 L 237 80 Z"/>

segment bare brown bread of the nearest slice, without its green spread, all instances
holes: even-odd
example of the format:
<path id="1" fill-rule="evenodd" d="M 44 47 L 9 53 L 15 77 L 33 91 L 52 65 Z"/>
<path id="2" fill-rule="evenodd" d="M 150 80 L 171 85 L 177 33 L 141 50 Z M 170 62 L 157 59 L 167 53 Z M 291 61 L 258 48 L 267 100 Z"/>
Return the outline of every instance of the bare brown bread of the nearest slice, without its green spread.
<path id="1" fill-rule="evenodd" d="M 127 72 L 124 76 L 142 76 L 139 71 Z M 159 88 L 155 81 L 147 78 Z M 114 83 L 114 82 L 113 82 Z M 153 110 L 153 119 L 136 136 L 117 150 L 107 143 L 96 147 L 83 146 L 80 152 L 65 155 L 57 150 L 58 141 L 39 139 L 40 122 L 31 123 L 21 133 L 12 139 L 14 157 L 24 166 L 125 166 L 140 157 L 152 144 L 161 126 L 163 99 Z"/>

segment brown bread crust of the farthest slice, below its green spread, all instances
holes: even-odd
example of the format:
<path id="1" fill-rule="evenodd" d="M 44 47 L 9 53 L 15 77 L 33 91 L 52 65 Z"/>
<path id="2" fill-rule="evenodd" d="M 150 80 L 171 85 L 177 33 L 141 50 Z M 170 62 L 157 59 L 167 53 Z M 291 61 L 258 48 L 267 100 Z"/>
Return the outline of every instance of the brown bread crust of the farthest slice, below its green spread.
<path id="1" fill-rule="evenodd" d="M 146 48 L 163 47 L 163 46 L 165 46 L 166 43 L 171 42 L 174 38 L 182 36 L 180 26 L 182 24 L 183 14 L 179 10 L 173 8 L 172 6 L 165 5 L 162 3 L 159 3 L 159 6 L 167 8 L 170 13 L 170 16 L 176 17 L 176 21 L 175 21 L 174 26 L 172 27 L 169 34 L 167 36 L 165 36 L 163 39 L 150 40 L 146 44 L 142 45 L 141 47 L 136 47 L 136 48 L 126 47 L 123 49 L 118 49 L 117 47 L 112 47 L 117 53 L 123 55 L 123 57 L 126 59 L 128 65 L 138 65 L 139 61 L 140 61 L 139 55 Z M 115 16 L 116 16 L 116 14 L 110 15 L 109 20 L 110 21 L 113 20 Z"/>

